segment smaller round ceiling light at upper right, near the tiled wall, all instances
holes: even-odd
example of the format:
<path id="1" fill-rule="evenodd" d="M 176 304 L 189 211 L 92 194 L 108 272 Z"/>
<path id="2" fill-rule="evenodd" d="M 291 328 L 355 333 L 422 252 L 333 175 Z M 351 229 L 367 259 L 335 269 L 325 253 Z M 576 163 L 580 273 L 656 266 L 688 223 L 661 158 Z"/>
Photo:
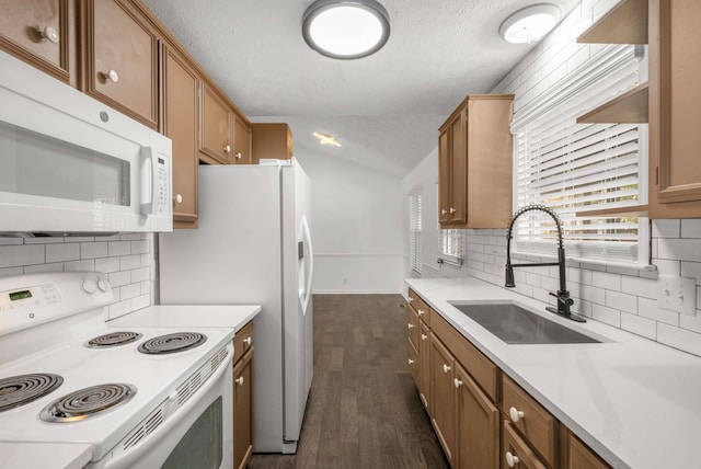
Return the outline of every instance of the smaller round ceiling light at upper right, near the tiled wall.
<path id="1" fill-rule="evenodd" d="M 539 41 L 560 20 L 560 9 L 552 3 L 538 3 L 518 10 L 504 20 L 499 35 L 507 43 L 530 44 Z"/>

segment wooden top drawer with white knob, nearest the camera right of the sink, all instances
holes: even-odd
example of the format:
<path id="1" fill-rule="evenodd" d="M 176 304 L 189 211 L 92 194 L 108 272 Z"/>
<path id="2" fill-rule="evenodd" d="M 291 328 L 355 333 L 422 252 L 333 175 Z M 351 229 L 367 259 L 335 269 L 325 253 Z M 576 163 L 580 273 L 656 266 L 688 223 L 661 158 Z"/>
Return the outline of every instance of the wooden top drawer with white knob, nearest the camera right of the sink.
<path id="1" fill-rule="evenodd" d="M 502 412 L 543 460 L 555 467 L 558 420 L 508 376 L 503 379 Z"/>

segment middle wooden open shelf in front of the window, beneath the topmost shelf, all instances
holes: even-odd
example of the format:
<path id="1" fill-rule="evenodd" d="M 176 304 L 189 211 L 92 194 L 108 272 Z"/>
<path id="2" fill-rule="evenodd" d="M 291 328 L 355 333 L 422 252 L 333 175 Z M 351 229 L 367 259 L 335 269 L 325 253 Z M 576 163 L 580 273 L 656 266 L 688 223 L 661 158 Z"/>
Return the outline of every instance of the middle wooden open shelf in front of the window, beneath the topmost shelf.
<path id="1" fill-rule="evenodd" d="M 647 82 L 577 117 L 577 124 L 647 123 Z"/>

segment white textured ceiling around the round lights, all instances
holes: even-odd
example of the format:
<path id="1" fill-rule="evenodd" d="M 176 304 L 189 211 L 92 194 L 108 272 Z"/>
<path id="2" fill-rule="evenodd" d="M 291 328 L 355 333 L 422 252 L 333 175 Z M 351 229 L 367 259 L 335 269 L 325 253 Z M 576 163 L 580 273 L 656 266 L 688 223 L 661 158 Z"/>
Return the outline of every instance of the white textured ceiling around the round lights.
<path id="1" fill-rule="evenodd" d="M 578 0 L 550 0 L 562 16 Z M 403 176 L 437 145 L 469 93 L 489 92 L 532 46 L 498 26 L 538 0 L 380 0 L 390 39 L 359 60 L 310 49 L 312 0 L 145 0 L 252 122 L 287 122 L 295 151 L 327 153 Z M 335 136 L 321 147 L 312 131 Z"/>

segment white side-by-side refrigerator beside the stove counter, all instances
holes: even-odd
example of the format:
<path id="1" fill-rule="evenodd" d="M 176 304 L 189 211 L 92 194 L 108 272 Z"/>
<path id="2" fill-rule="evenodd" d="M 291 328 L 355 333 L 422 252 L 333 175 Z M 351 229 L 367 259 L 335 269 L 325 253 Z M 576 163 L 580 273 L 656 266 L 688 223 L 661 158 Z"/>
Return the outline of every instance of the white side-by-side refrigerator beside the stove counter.
<path id="1" fill-rule="evenodd" d="M 200 165 L 199 227 L 159 236 L 160 302 L 261 305 L 254 451 L 295 453 L 312 379 L 309 176 L 295 160 Z"/>

